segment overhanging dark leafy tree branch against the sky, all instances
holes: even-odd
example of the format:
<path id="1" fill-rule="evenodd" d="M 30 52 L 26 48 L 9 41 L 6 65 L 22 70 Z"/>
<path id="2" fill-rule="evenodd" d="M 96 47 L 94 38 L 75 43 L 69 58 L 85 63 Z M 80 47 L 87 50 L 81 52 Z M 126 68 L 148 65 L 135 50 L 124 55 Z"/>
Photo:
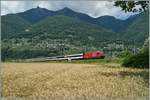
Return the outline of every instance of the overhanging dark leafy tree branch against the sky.
<path id="1" fill-rule="evenodd" d="M 115 1 L 114 6 L 121 7 L 125 12 L 141 12 L 149 8 L 149 1 Z"/>

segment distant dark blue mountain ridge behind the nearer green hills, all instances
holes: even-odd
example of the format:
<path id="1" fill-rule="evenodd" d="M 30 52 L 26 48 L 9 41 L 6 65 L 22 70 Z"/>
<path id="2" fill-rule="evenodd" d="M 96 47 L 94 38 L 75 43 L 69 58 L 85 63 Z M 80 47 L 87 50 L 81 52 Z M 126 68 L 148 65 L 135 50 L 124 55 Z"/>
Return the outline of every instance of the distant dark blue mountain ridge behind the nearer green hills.
<path id="1" fill-rule="evenodd" d="M 120 19 L 116 19 L 113 16 L 101 16 L 99 18 L 93 18 L 93 17 L 88 16 L 87 14 L 73 11 L 67 7 L 58 11 L 50 11 L 45 8 L 37 7 L 37 8 L 32 8 L 22 13 L 18 13 L 18 15 L 30 23 L 39 22 L 40 20 L 48 16 L 64 15 L 64 16 L 78 18 L 80 20 L 83 20 L 85 22 L 89 22 L 92 24 L 96 24 L 100 27 L 104 27 L 114 32 L 120 32 L 124 30 L 124 28 L 126 28 L 135 19 L 135 17 L 132 17 L 132 20 L 129 18 L 129 21 L 128 19 L 120 20 Z"/>

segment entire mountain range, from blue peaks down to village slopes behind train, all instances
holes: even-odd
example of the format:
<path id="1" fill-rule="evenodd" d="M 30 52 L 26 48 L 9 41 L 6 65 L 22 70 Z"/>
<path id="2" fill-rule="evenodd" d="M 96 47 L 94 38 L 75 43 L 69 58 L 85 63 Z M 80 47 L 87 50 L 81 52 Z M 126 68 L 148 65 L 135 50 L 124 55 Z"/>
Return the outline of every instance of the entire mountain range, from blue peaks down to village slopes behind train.
<path id="1" fill-rule="evenodd" d="M 2 16 L 2 60 L 91 50 L 108 56 L 138 52 L 148 38 L 148 18 L 148 12 L 123 21 L 112 16 L 92 18 L 69 8 L 54 12 L 39 7 L 8 14 Z"/>

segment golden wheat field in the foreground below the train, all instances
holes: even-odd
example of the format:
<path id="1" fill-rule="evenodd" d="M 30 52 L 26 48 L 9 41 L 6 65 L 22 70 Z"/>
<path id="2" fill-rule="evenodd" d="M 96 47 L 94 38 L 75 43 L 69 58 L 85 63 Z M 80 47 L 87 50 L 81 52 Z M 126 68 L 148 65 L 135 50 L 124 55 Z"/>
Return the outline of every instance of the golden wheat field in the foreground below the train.
<path id="1" fill-rule="evenodd" d="M 117 64 L 69 63 L 2 63 L 1 66 L 3 98 L 100 100 L 105 97 L 148 97 L 148 69 L 123 68 Z"/>

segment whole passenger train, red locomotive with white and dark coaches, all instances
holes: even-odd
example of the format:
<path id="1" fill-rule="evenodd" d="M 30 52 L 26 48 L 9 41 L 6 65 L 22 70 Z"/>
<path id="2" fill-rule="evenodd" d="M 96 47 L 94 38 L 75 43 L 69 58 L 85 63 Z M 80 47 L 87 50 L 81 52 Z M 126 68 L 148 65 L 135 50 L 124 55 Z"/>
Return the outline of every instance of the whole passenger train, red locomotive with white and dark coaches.
<path id="1" fill-rule="evenodd" d="M 30 61 L 59 61 L 59 60 L 78 60 L 78 59 L 104 59 L 105 54 L 102 51 L 89 51 L 80 54 L 54 56 L 54 57 L 43 57 L 28 59 Z"/>

